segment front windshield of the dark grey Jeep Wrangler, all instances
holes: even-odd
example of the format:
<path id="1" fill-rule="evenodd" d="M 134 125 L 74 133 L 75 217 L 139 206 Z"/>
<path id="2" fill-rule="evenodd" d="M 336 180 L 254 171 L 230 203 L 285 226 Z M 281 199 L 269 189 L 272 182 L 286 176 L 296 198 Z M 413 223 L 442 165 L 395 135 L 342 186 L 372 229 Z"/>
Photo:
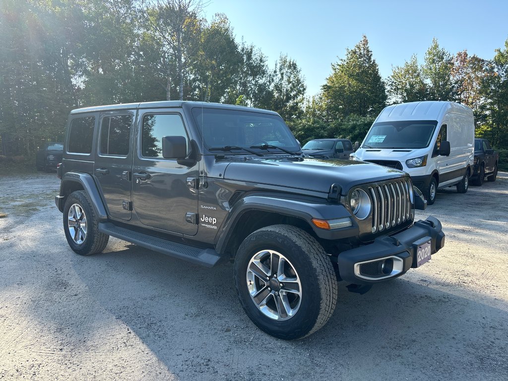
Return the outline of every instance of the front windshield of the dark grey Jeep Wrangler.
<path id="1" fill-rule="evenodd" d="M 278 115 L 198 107 L 193 108 L 192 113 L 207 148 L 249 148 L 267 144 L 290 151 L 300 150 L 295 137 Z M 256 150 L 263 152 L 262 149 Z"/>

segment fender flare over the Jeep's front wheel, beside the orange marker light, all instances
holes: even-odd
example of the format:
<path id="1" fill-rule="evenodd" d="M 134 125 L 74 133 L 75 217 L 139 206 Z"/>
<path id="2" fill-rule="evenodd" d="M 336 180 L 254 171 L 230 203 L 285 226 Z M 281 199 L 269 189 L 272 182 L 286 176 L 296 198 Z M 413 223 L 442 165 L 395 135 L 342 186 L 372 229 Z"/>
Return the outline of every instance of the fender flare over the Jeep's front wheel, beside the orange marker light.
<path id="1" fill-rule="evenodd" d="M 326 201 L 310 200 L 305 198 L 291 199 L 275 194 L 250 194 L 237 201 L 226 217 L 215 242 L 217 252 L 223 252 L 240 218 L 249 211 L 266 211 L 288 217 L 297 217 L 304 220 L 314 231 L 317 237 L 323 239 L 339 239 L 359 234 L 359 227 L 350 212 L 342 204 L 327 203 Z M 337 219 L 351 218 L 352 226 L 349 228 L 324 230 L 312 223 L 312 218 Z"/>

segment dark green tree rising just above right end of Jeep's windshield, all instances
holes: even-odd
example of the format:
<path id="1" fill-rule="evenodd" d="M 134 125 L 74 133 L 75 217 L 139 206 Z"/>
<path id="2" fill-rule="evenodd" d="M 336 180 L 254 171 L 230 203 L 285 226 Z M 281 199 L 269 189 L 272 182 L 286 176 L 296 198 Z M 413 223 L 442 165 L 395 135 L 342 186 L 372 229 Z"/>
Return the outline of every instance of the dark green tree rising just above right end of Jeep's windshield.
<path id="1" fill-rule="evenodd" d="M 306 89 L 302 71 L 296 61 L 281 54 L 273 70 L 271 109 L 284 120 L 301 117 Z"/>

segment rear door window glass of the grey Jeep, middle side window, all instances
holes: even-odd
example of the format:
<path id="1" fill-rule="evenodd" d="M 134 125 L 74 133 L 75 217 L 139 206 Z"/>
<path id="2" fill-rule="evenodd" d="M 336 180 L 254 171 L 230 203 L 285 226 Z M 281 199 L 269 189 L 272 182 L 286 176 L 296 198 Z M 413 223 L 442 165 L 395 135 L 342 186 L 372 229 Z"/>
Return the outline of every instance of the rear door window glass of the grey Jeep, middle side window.
<path id="1" fill-rule="evenodd" d="M 99 152 L 103 155 L 127 156 L 131 136 L 131 115 L 107 116 L 101 122 Z"/>

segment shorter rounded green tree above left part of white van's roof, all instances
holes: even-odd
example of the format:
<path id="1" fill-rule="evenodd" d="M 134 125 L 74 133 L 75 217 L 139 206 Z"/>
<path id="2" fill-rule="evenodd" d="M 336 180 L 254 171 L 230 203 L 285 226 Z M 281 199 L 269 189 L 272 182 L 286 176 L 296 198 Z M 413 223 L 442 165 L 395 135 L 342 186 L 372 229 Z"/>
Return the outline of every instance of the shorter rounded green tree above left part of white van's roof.
<path id="1" fill-rule="evenodd" d="M 427 85 L 416 54 L 412 55 L 404 66 L 392 69 L 388 87 L 390 96 L 396 102 L 417 102 L 427 99 Z"/>

